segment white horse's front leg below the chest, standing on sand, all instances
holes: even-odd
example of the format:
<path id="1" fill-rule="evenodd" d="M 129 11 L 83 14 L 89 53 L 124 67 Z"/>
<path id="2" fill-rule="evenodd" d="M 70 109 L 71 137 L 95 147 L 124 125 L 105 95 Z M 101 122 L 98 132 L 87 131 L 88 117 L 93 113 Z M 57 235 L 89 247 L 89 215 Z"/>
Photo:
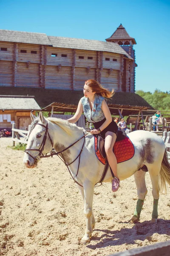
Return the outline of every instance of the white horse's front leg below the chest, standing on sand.
<path id="1" fill-rule="evenodd" d="M 86 217 L 86 229 L 85 235 L 83 236 L 81 242 L 82 244 L 87 244 L 90 241 L 92 234 L 92 225 L 91 219 L 94 219 L 92 215 L 92 204 L 93 204 L 93 195 L 94 195 L 94 186 L 88 182 L 84 183 L 84 213 Z"/>

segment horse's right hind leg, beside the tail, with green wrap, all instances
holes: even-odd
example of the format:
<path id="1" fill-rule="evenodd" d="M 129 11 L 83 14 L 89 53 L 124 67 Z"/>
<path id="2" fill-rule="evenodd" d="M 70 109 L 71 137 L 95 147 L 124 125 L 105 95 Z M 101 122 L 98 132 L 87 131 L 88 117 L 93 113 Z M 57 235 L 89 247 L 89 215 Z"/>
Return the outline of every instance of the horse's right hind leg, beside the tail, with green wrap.
<path id="1" fill-rule="evenodd" d="M 148 166 L 148 171 L 150 174 L 150 179 L 152 182 L 152 195 L 153 195 L 153 212 L 151 223 L 157 223 L 158 218 L 158 201 L 159 201 L 159 172 L 161 166 L 156 163 L 154 167 L 150 168 Z"/>

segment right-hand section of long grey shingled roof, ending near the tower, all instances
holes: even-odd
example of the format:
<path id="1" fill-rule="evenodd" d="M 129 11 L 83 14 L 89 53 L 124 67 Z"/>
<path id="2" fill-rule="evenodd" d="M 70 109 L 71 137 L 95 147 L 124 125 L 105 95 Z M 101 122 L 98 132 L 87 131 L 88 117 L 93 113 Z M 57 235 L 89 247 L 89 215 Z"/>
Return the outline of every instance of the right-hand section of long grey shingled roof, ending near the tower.
<path id="1" fill-rule="evenodd" d="M 128 58 L 133 59 L 130 55 L 127 54 L 127 52 L 125 52 L 124 49 L 122 49 L 122 47 L 119 46 L 119 44 L 116 43 L 57 36 L 48 36 L 48 38 L 51 41 L 53 47 L 114 52 L 124 54 Z"/>

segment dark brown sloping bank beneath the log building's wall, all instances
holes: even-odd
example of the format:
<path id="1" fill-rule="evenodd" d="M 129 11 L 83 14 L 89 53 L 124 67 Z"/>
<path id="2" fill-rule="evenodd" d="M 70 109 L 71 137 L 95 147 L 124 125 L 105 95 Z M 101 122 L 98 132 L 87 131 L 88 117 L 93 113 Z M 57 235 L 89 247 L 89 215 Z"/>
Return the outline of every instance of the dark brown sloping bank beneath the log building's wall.
<path id="1" fill-rule="evenodd" d="M 9 87 L 1 87 L 1 95 L 8 94 Z M 62 104 L 78 105 L 83 97 L 82 90 L 59 90 L 31 87 L 10 87 L 11 95 L 34 95 L 35 100 L 41 108 L 50 105 L 51 102 L 60 102 Z M 108 99 L 108 104 L 143 106 L 153 109 L 141 96 L 136 93 L 116 92 L 112 99 Z"/>

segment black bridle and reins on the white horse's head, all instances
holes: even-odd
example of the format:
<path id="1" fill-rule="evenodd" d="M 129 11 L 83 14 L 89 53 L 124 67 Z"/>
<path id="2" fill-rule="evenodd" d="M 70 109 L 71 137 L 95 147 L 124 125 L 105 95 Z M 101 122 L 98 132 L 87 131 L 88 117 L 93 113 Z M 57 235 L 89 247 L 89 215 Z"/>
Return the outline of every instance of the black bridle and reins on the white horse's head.
<path id="1" fill-rule="evenodd" d="M 42 124 L 40 124 L 40 123 L 38 123 L 38 122 L 37 122 L 36 124 L 34 124 L 34 125 L 32 126 L 32 128 L 31 128 L 30 132 L 29 132 L 29 136 L 30 136 L 30 134 L 31 134 L 31 132 L 32 132 L 32 130 L 33 130 L 33 128 L 34 128 L 35 125 L 41 125 L 42 127 L 44 127 L 44 128 L 45 128 L 45 134 L 44 134 L 42 143 L 41 143 L 41 145 L 40 145 L 40 148 L 39 148 L 39 149 L 26 148 L 26 150 L 25 150 L 26 154 L 28 154 L 30 157 L 32 157 L 32 158 L 34 159 L 34 162 L 37 162 L 38 160 L 40 160 L 40 158 L 44 158 L 44 157 L 53 157 L 54 155 L 57 155 L 57 156 L 62 160 L 62 162 L 65 163 L 65 165 L 67 166 L 67 169 L 68 169 L 68 171 L 69 171 L 71 177 L 73 178 L 74 182 L 76 182 L 79 186 L 82 186 L 80 183 L 78 183 L 78 182 L 74 179 L 74 177 L 73 177 L 73 175 L 71 174 L 71 171 L 70 171 L 70 169 L 69 169 L 68 166 L 71 165 L 72 163 L 74 163 L 74 162 L 77 160 L 77 158 L 79 158 L 79 163 L 80 163 L 80 156 L 81 156 L 81 154 L 82 154 L 82 150 L 83 150 L 83 147 L 84 147 L 84 145 L 85 145 L 85 136 L 88 135 L 89 132 L 88 132 L 87 134 L 85 134 L 85 133 L 83 132 L 84 135 L 79 139 L 79 140 L 81 140 L 82 138 L 84 138 L 83 145 L 82 145 L 82 149 L 80 150 L 78 156 L 77 156 L 71 163 L 68 164 L 68 163 L 66 163 L 66 161 L 65 161 L 63 152 L 66 151 L 68 148 L 71 148 L 71 147 L 72 147 L 74 144 L 76 144 L 79 140 L 77 140 L 76 142 L 72 143 L 72 144 L 69 145 L 67 148 L 64 148 L 62 151 L 56 152 L 55 150 L 53 150 L 53 142 L 52 142 L 51 137 L 50 137 L 50 134 L 49 134 L 49 132 L 48 132 L 48 122 L 47 122 L 46 126 L 45 126 L 45 125 L 42 125 Z M 44 154 L 42 154 L 42 151 L 44 150 L 45 142 L 46 142 L 46 140 L 47 140 L 47 134 L 48 134 L 49 140 L 50 140 L 51 145 L 52 145 L 52 150 L 51 150 L 51 152 L 49 152 L 50 154 L 47 153 L 47 154 L 44 155 Z M 28 137 L 29 137 L 29 136 L 28 136 Z M 33 157 L 28 151 L 38 151 L 39 154 L 38 154 L 36 157 Z M 59 156 L 59 154 L 62 154 L 62 158 Z M 78 164 L 78 168 L 77 168 L 76 177 L 77 177 L 77 175 L 78 175 L 78 172 L 79 172 L 79 164 Z"/>

